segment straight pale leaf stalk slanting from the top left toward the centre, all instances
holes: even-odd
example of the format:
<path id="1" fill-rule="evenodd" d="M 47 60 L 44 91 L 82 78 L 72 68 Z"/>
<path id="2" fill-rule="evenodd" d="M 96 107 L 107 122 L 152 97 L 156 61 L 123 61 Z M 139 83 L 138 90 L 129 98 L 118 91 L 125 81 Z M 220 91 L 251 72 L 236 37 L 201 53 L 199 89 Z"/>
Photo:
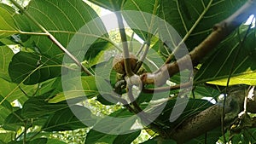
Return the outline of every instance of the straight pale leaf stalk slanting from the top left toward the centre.
<path id="1" fill-rule="evenodd" d="M 23 14 L 26 14 L 26 16 L 32 20 L 32 22 L 38 26 L 48 37 L 49 39 L 55 43 L 65 54 L 68 55 L 68 57 L 70 57 L 80 68 L 82 71 L 84 71 L 85 73 L 87 73 L 88 75 L 92 76 L 93 74 L 86 68 L 84 67 L 81 62 L 74 56 L 72 55 L 52 34 L 50 34 L 45 28 L 44 26 L 42 26 L 41 24 L 38 23 L 37 20 L 35 20 L 31 14 L 29 14 L 26 9 L 23 9 L 19 3 L 15 2 L 15 0 L 10 0 L 11 3 L 14 3 L 14 5 L 20 9 L 20 11 L 23 13 Z"/>

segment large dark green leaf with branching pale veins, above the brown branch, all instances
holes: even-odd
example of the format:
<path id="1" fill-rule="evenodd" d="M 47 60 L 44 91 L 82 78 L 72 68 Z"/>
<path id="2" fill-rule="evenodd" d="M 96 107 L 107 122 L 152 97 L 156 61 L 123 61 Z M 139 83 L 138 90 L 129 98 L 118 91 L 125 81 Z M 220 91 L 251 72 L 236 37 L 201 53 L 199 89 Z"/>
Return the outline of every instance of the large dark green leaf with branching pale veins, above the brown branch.
<path id="1" fill-rule="evenodd" d="M 212 32 L 214 24 L 233 14 L 246 1 L 162 0 L 159 16 L 175 28 L 189 49 L 194 49 Z"/>

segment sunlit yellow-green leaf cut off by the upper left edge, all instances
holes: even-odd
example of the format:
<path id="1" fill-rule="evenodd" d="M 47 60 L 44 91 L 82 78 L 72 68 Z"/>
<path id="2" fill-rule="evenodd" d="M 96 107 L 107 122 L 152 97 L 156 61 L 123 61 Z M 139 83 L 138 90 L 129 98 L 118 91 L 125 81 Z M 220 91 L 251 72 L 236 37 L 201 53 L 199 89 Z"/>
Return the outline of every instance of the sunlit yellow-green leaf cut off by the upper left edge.
<path id="1" fill-rule="evenodd" d="M 17 26 L 15 25 L 15 20 L 13 15 L 15 14 L 15 9 L 0 3 L 0 30 L 3 32 L 0 33 L 0 38 L 9 37 L 13 33 L 11 31 L 17 30 Z"/>

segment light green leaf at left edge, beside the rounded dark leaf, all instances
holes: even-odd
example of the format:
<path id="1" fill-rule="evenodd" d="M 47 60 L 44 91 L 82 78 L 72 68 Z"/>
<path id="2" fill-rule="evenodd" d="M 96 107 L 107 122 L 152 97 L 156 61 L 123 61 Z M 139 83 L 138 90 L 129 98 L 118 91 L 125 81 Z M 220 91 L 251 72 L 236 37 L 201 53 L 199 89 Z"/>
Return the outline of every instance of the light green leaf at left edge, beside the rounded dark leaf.
<path id="1" fill-rule="evenodd" d="M 8 67 L 13 55 L 14 53 L 9 47 L 0 46 L 0 78 L 10 80 Z"/>

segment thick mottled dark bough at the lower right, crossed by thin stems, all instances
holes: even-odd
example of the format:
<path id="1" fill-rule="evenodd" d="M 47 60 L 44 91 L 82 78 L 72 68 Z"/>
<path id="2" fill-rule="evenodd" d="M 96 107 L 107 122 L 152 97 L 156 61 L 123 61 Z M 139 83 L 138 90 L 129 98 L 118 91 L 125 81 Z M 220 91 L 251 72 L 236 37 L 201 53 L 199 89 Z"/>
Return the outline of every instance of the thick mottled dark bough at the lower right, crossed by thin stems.
<path id="1" fill-rule="evenodd" d="M 255 92 L 256 90 L 254 90 L 254 94 Z M 224 107 L 224 123 L 226 126 L 229 126 L 238 117 L 238 113 L 243 111 L 245 95 L 247 95 L 247 87 L 233 87 L 230 90 Z M 183 143 L 219 127 L 221 124 L 222 109 L 222 103 L 207 108 L 194 117 L 185 120 L 175 130 L 169 130 L 169 137 L 177 141 L 177 143 Z M 256 102 L 248 101 L 248 112 L 255 111 Z"/>

